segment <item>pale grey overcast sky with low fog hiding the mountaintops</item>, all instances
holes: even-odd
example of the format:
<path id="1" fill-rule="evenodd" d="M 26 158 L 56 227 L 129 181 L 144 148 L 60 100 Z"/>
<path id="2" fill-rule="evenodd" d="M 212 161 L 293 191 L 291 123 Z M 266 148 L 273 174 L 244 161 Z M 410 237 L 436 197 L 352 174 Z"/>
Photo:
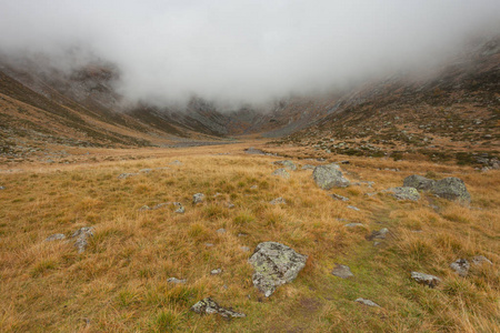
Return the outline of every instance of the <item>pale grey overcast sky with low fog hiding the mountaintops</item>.
<path id="1" fill-rule="evenodd" d="M 262 102 L 426 67 L 499 22 L 500 0 L 0 0 L 0 50 L 62 67 L 78 46 L 133 100 Z"/>

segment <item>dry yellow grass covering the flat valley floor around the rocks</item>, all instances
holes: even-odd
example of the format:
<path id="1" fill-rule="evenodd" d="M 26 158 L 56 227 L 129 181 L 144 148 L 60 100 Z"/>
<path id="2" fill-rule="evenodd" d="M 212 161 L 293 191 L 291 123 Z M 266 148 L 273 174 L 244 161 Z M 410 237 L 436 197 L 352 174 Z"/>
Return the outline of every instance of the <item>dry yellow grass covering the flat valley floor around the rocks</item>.
<path id="1" fill-rule="evenodd" d="M 246 155 L 242 148 L 143 150 L 137 155 L 152 157 L 1 173 L 0 185 L 7 189 L 0 191 L 0 331 L 498 331 L 498 171 L 350 158 L 347 176 L 374 181 L 373 189 L 323 191 L 311 171 L 291 172 L 290 180 L 272 176 L 278 167 L 271 162 L 278 158 Z M 176 159 L 183 164 L 170 165 Z M 170 169 L 117 179 L 161 167 Z M 384 168 L 401 172 L 378 170 Z M 426 196 L 398 202 L 386 194 L 364 195 L 428 172 L 462 178 L 471 208 Z M 206 201 L 194 206 L 198 192 Z M 328 193 L 350 201 L 334 201 Z M 278 196 L 287 204 L 269 203 Z M 139 211 L 169 201 L 181 202 L 186 213 L 174 213 L 173 206 Z M 228 209 L 227 202 L 236 206 Z M 346 221 L 364 228 L 347 229 Z M 96 235 L 82 254 L 71 244 L 43 241 L 90 225 Z M 391 235 L 379 246 L 364 239 L 383 226 Z M 227 232 L 218 233 L 221 228 Z M 251 283 L 247 260 L 252 250 L 241 249 L 263 241 L 309 255 L 298 279 L 269 299 Z M 450 270 L 454 260 L 473 255 L 494 264 L 473 268 L 468 278 Z M 348 264 L 354 278 L 331 275 L 334 263 Z M 222 273 L 211 275 L 218 268 Z M 442 284 L 423 287 L 409 279 L 411 271 L 438 275 Z M 188 282 L 168 283 L 171 276 Z M 209 295 L 247 317 L 226 322 L 189 311 Z M 366 307 L 353 302 L 357 297 L 382 307 Z"/>

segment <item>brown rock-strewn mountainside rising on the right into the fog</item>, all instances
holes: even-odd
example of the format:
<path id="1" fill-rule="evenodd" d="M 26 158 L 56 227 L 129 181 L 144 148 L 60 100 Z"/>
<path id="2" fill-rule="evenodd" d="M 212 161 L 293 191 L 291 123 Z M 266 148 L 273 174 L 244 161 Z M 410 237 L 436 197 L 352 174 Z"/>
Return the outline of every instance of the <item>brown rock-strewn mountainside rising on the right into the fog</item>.
<path id="1" fill-rule="evenodd" d="M 324 118 L 276 143 L 327 154 L 497 163 L 500 39 L 476 46 L 431 77 L 389 78 L 330 104 Z"/>

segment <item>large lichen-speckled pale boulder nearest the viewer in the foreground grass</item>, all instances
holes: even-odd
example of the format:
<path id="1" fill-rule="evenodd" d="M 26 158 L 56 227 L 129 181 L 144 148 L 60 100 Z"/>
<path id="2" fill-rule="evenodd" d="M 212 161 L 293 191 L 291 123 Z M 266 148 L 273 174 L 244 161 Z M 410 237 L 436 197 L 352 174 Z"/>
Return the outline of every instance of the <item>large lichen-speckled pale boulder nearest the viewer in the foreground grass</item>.
<path id="1" fill-rule="evenodd" d="M 274 290 L 293 281 L 306 266 L 308 256 L 277 242 L 263 242 L 257 245 L 250 264 L 253 265 L 253 285 L 269 297 Z"/>

